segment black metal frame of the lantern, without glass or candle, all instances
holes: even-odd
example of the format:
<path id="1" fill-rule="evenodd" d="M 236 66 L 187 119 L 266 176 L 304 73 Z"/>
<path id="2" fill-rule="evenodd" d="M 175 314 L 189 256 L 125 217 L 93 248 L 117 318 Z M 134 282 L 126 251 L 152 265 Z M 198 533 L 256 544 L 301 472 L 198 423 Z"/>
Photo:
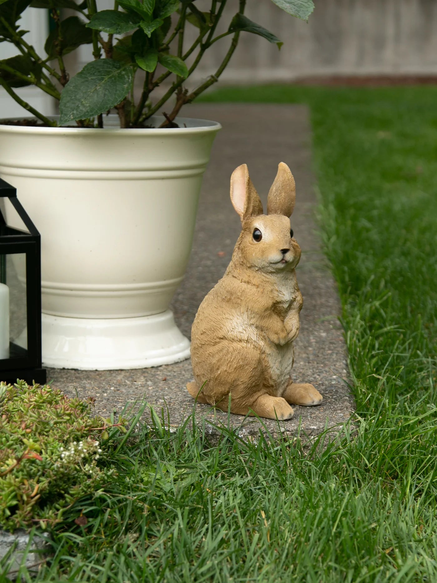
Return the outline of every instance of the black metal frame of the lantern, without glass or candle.
<path id="1" fill-rule="evenodd" d="M 12 341 L 8 359 L 0 360 L 0 381 L 45 384 L 41 356 L 41 236 L 17 198 L 17 190 L 0 178 L 0 198 L 8 198 L 27 231 L 10 227 L 0 210 L 0 257 L 26 255 L 27 349 Z M 12 353 L 12 356 L 11 356 Z"/>

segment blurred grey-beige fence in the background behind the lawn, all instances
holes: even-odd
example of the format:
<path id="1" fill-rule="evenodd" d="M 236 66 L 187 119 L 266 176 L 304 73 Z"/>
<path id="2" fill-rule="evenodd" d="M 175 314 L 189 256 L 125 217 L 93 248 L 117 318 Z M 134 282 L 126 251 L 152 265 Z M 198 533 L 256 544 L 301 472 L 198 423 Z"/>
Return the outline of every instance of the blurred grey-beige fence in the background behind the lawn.
<path id="1" fill-rule="evenodd" d="M 227 6 L 230 20 L 234 3 Z M 196 2 L 196 5 L 198 3 Z M 233 83 L 332 75 L 436 75 L 436 0 L 315 0 L 308 24 L 269 0 L 249 0 L 246 15 L 282 41 L 276 45 L 241 33 L 222 79 Z M 206 53 L 198 71 L 220 63 L 229 39 Z"/>

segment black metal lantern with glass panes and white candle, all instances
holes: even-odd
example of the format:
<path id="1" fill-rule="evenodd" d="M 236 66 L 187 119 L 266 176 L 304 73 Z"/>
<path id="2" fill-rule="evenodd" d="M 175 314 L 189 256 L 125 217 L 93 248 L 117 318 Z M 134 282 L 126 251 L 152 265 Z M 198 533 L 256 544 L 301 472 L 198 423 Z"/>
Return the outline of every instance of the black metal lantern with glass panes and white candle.
<path id="1" fill-rule="evenodd" d="M 27 229 L 6 224 L 0 208 L 0 381 L 44 384 L 41 367 L 41 238 L 0 178 L 0 203 L 9 199 Z M 6 202 L 5 202 L 6 203 Z"/>

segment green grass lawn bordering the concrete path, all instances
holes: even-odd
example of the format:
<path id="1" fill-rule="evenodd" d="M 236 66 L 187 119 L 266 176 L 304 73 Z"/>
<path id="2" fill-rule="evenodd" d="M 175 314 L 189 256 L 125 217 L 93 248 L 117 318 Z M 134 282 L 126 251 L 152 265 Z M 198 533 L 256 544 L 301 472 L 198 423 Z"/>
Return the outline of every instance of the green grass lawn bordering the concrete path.
<path id="1" fill-rule="evenodd" d="M 71 508 L 37 580 L 437 581 L 437 88 L 206 99 L 311 108 L 357 429 L 308 451 L 156 420 L 114 441 L 117 480 Z"/>

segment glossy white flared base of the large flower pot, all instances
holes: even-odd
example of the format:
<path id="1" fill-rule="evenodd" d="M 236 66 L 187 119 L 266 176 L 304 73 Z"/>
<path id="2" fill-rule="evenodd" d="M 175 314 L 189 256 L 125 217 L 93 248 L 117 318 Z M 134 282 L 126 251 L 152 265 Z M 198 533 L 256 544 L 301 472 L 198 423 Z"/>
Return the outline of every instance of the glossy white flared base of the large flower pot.
<path id="1" fill-rule="evenodd" d="M 185 360 L 190 343 L 170 310 L 140 318 L 42 314 L 43 363 L 53 368 L 121 370 Z"/>

